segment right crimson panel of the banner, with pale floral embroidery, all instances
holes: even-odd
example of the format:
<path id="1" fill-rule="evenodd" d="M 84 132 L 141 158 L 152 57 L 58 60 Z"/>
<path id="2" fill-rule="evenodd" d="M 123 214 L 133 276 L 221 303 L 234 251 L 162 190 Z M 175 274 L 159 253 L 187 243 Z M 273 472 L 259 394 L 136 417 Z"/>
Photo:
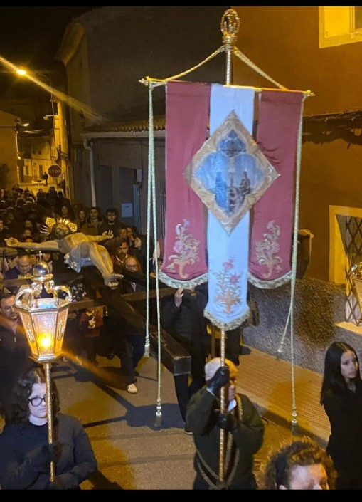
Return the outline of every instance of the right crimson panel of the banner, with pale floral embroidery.
<path id="1" fill-rule="evenodd" d="M 297 139 L 302 93 L 262 90 L 257 144 L 280 177 L 253 208 L 249 281 L 277 288 L 292 278 L 291 256 Z"/>

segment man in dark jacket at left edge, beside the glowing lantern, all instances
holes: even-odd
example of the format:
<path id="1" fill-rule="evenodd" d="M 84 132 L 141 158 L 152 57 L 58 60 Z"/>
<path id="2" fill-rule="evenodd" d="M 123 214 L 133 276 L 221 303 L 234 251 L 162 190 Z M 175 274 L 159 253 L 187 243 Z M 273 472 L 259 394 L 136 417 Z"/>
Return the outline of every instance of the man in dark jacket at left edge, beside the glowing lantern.
<path id="1" fill-rule="evenodd" d="M 15 296 L 3 293 L 0 297 L 0 412 L 5 422 L 10 419 L 11 389 L 18 377 L 36 367 L 36 362 L 29 358 L 30 348 L 14 305 Z"/>

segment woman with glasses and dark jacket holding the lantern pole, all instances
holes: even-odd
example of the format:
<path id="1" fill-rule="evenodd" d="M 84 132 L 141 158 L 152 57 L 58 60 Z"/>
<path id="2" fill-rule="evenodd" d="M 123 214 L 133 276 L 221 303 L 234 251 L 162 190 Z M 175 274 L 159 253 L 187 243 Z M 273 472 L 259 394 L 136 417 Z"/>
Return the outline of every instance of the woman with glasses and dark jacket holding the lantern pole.
<path id="1" fill-rule="evenodd" d="M 52 381 L 53 444 L 48 444 L 46 383 L 37 367 L 20 378 L 12 395 L 11 422 L 0 434 L 0 486 L 3 490 L 79 490 L 97 469 L 90 439 L 80 420 L 60 413 Z M 50 462 L 55 481 L 50 483 Z"/>

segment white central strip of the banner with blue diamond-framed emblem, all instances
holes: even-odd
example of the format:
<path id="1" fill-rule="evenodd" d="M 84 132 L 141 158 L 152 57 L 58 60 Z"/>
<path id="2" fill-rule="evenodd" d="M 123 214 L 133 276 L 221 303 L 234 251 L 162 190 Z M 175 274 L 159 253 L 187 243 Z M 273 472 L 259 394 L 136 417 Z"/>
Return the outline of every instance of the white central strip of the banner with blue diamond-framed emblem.
<path id="1" fill-rule="evenodd" d="M 185 176 L 208 208 L 206 318 L 223 330 L 249 315 L 249 211 L 277 177 L 252 138 L 255 91 L 211 85 L 210 137 Z"/>

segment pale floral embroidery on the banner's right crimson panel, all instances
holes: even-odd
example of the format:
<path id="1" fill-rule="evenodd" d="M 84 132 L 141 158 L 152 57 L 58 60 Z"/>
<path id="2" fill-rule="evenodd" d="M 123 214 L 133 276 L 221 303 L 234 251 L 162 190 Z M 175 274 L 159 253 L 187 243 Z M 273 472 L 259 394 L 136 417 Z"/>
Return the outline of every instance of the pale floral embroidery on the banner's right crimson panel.
<path id="1" fill-rule="evenodd" d="M 264 239 L 257 241 L 255 246 L 257 263 L 267 266 L 267 272 L 262 274 L 265 279 L 269 279 L 273 271 L 280 272 L 282 270 L 280 266 L 282 258 L 277 254 L 280 251 L 278 242 L 280 226 L 275 225 L 275 220 L 272 220 L 267 224 L 267 229 L 270 233 L 265 233 Z"/>

